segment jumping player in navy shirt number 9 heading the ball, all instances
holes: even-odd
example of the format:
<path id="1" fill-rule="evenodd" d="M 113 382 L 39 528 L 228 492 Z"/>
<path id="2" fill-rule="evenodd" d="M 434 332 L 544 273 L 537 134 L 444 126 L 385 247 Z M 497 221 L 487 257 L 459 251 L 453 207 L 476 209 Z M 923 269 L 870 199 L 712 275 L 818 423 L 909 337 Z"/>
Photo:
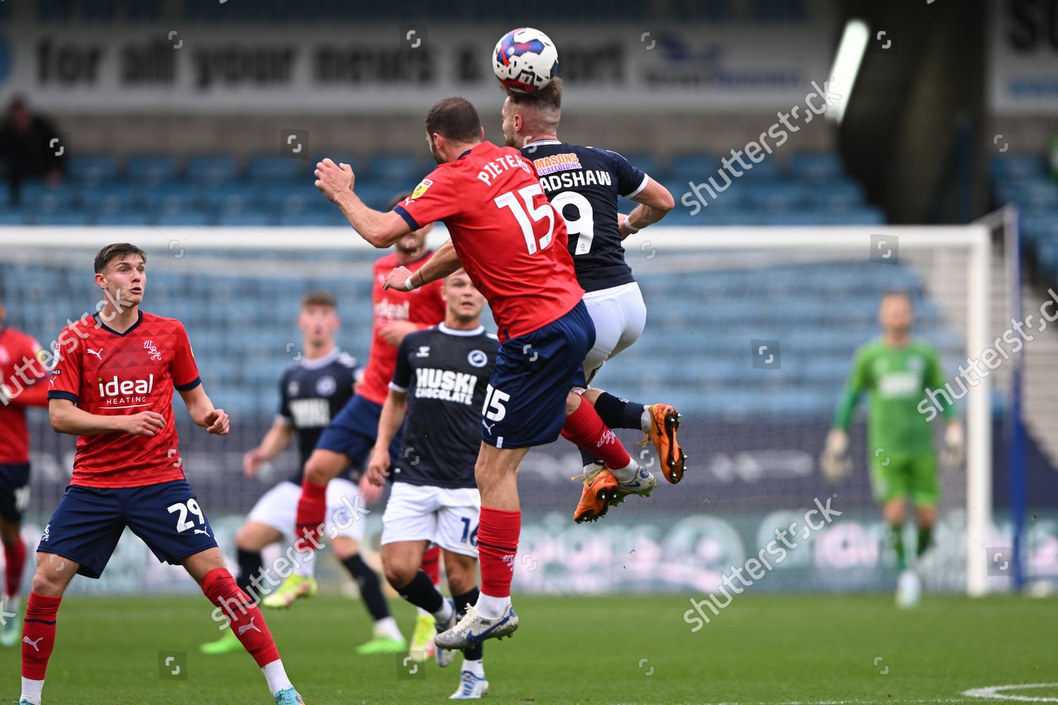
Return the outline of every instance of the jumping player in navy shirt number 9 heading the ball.
<path id="1" fill-rule="evenodd" d="M 621 241 L 664 218 L 674 201 L 664 186 L 617 152 L 559 141 L 561 78 L 532 93 L 507 91 L 503 118 L 507 146 L 521 148 L 532 161 L 544 193 L 566 221 L 569 254 L 596 328 L 595 346 L 584 359 L 590 383 L 607 359 L 639 339 L 646 324 L 646 304 Z M 639 205 L 628 216 L 619 214 L 619 196 Z M 679 414 L 674 408 L 630 402 L 598 388 L 585 391 L 584 398 L 609 428 L 645 433 L 643 444 L 654 444 L 665 479 L 673 484 L 682 479 L 687 456 L 676 441 Z M 581 456 L 587 491 L 604 466 L 587 450 Z M 625 495 L 621 491 L 619 499 Z"/>

